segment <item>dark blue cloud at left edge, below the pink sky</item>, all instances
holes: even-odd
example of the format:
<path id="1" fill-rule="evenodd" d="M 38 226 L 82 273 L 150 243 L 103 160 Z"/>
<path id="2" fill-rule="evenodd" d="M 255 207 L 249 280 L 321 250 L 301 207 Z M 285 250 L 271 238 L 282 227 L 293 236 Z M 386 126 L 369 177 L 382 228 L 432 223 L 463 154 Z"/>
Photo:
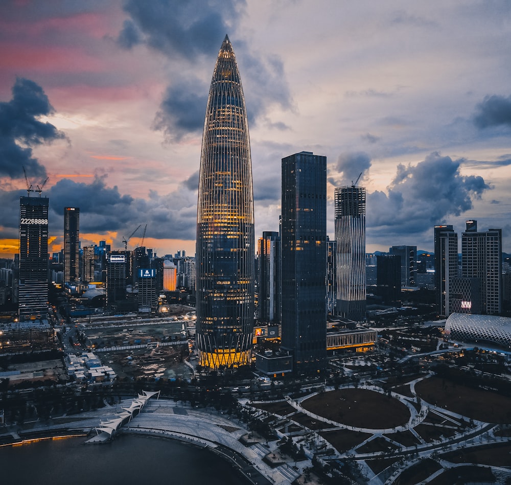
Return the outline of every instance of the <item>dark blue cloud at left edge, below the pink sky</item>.
<path id="1" fill-rule="evenodd" d="M 31 178 L 46 176 L 45 168 L 32 156 L 32 147 L 65 138 L 51 123 L 37 119 L 53 112 L 41 86 L 30 79 L 16 79 L 12 99 L 0 103 L 0 175 L 21 177 L 24 166 Z"/>

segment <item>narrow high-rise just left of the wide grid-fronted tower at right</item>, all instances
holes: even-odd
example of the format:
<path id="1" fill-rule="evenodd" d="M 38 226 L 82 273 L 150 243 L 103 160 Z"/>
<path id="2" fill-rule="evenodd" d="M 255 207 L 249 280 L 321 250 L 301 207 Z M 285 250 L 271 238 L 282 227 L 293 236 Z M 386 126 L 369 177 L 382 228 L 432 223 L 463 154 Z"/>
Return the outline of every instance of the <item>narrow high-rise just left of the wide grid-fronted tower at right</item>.
<path id="1" fill-rule="evenodd" d="M 458 277 L 458 235 L 451 224 L 434 227 L 435 288 L 438 315 L 453 312 L 453 283 Z"/>

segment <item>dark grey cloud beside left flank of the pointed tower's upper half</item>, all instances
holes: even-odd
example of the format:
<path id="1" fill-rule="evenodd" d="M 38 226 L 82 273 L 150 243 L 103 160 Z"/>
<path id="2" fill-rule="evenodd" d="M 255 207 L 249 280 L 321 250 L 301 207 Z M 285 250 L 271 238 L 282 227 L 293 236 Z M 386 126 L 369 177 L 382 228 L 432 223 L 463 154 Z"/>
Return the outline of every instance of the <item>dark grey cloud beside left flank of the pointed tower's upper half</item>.
<path id="1" fill-rule="evenodd" d="M 165 133 L 169 141 L 180 140 L 190 132 L 200 132 L 204 126 L 208 88 L 198 79 L 176 83 L 167 88 L 156 113 L 153 128 Z"/>

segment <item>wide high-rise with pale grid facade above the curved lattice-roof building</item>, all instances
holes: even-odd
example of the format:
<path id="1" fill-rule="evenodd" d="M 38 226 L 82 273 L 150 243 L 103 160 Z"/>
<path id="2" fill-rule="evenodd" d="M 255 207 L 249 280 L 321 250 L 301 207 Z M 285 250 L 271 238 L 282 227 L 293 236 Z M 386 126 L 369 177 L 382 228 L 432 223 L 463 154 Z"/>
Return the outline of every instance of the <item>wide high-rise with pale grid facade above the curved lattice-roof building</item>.
<path id="1" fill-rule="evenodd" d="M 478 281 L 480 313 L 499 315 L 502 310 L 502 229 L 477 230 L 477 221 L 467 221 L 461 234 L 461 277 Z M 472 299 L 471 297 L 471 299 Z M 466 303 L 468 306 L 469 303 Z M 472 307 L 472 305 L 470 304 Z M 479 313 L 471 308 L 471 313 Z"/>

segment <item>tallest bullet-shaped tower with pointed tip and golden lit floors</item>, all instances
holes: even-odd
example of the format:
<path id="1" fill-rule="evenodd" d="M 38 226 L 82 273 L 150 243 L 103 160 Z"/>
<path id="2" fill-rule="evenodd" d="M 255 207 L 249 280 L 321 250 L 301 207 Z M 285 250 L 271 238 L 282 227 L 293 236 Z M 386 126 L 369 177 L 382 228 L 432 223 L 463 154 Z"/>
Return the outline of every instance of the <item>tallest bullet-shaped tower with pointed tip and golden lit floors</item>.
<path id="1" fill-rule="evenodd" d="M 254 219 L 250 141 L 238 65 L 225 39 L 207 100 L 197 207 L 199 363 L 251 361 Z"/>

